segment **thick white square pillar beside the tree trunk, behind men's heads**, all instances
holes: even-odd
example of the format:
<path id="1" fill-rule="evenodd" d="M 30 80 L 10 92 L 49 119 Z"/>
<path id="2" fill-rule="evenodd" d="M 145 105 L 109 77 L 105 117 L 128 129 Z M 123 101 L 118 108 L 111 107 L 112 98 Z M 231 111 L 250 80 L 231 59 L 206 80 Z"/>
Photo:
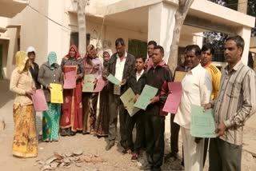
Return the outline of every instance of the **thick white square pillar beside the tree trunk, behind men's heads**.
<path id="1" fill-rule="evenodd" d="M 175 6 L 159 2 L 149 8 L 148 41 L 154 40 L 165 50 L 165 61 L 170 54 L 170 44 L 173 38 L 173 30 L 176 11 Z"/>

